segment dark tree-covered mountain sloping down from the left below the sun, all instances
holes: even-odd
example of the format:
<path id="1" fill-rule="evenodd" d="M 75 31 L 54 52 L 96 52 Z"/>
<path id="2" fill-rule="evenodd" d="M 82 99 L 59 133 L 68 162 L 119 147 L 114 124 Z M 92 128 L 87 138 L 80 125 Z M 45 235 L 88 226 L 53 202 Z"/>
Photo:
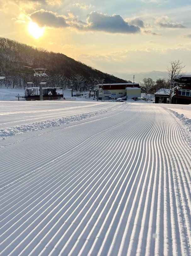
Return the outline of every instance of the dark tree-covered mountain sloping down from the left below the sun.
<path id="1" fill-rule="evenodd" d="M 124 79 L 96 70 L 64 54 L 48 52 L 44 49 L 37 49 L 0 37 L 0 67 L 6 72 L 7 76 L 32 75 L 33 70 L 24 66 L 46 68 L 47 74 L 52 77 L 55 74 L 62 74 L 69 78 L 80 74 L 86 79 L 93 77 L 106 83 L 126 82 Z"/>

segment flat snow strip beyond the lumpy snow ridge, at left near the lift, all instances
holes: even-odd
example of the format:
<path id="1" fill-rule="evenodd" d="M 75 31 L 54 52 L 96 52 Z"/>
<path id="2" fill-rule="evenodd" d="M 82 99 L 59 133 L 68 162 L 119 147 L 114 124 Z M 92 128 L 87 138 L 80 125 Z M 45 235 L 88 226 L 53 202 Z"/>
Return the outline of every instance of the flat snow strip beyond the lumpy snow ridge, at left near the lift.
<path id="1" fill-rule="evenodd" d="M 97 101 L 0 101 L 0 127 L 14 127 L 115 106 L 115 103 Z"/>

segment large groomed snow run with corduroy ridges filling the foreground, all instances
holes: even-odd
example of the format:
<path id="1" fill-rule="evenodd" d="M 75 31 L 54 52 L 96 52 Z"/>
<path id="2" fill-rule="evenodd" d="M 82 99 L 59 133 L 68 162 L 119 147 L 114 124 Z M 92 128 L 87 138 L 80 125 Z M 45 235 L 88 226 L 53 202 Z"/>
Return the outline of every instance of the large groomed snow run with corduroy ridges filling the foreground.
<path id="1" fill-rule="evenodd" d="M 122 103 L 0 141 L 0 255 L 190 255 L 190 139 Z"/>

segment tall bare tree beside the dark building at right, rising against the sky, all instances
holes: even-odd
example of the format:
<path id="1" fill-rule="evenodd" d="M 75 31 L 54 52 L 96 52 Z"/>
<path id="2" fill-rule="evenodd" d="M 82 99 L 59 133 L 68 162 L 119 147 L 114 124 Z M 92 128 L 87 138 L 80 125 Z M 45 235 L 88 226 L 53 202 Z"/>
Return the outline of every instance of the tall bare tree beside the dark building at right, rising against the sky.
<path id="1" fill-rule="evenodd" d="M 183 76 L 183 68 L 185 66 L 182 66 L 182 62 L 178 60 L 174 60 L 170 62 L 170 66 L 167 67 L 167 72 L 168 72 L 168 79 L 167 79 L 167 88 L 170 91 L 170 103 L 172 102 L 172 93 L 174 92 L 175 88 L 173 86 L 174 79 L 180 78 Z"/>

